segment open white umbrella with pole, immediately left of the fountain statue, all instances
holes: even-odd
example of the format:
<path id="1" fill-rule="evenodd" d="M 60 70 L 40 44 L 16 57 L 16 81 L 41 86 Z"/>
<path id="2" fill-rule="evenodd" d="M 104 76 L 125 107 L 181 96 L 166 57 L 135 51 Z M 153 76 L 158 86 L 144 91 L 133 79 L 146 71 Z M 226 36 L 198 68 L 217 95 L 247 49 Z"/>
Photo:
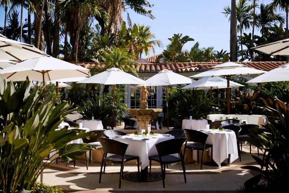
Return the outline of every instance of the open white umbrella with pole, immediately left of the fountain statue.
<path id="1" fill-rule="evenodd" d="M 108 68 L 106 71 L 95 74 L 77 83 L 94 83 L 94 84 L 112 84 L 113 85 L 113 109 L 112 117 L 114 118 L 114 85 L 115 84 L 144 84 L 144 80 L 122 71 L 119 68 Z"/>

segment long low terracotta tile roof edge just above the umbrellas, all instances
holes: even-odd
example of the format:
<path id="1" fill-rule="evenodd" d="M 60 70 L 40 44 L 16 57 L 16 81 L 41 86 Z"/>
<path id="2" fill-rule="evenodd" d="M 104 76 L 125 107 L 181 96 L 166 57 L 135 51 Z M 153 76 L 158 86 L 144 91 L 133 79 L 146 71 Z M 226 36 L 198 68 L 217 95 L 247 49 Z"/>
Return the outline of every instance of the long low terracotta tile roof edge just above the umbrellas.
<path id="1" fill-rule="evenodd" d="M 73 63 L 73 62 L 71 62 Z M 206 71 L 210 67 L 221 64 L 222 62 L 177 62 L 177 63 L 139 63 L 135 66 L 138 72 L 159 72 L 163 69 L 172 70 L 174 72 L 193 72 L 193 71 Z M 247 67 L 255 68 L 258 70 L 270 71 L 287 62 L 236 62 L 239 64 L 247 65 Z M 101 68 L 104 64 L 96 62 L 79 62 L 85 68 L 93 68 L 96 65 Z"/>

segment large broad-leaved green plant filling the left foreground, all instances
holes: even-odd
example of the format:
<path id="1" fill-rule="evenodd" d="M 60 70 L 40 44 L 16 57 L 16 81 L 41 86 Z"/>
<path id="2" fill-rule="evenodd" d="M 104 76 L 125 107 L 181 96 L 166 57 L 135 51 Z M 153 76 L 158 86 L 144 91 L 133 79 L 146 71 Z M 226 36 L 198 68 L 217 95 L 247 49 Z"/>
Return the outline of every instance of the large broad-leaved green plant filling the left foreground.
<path id="1" fill-rule="evenodd" d="M 88 144 L 68 144 L 91 136 L 79 129 L 55 131 L 71 109 L 70 101 L 56 103 L 50 96 L 39 100 L 38 88 L 30 92 L 28 77 L 21 85 L 0 76 L 0 188 L 2 192 L 32 190 L 43 158 L 73 160 L 89 149 Z M 51 162 L 54 160 L 51 160 Z"/>

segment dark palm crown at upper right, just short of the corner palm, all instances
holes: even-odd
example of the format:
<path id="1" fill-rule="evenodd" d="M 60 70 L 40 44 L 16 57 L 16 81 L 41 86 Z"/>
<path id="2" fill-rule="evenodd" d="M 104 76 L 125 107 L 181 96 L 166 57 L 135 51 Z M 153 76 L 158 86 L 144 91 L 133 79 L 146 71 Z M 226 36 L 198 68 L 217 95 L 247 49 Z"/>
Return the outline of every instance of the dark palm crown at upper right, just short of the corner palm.
<path id="1" fill-rule="evenodd" d="M 282 14 L 275 14 L 270 8 L 270 5 L 260 5 L 260 13 L 256 15 L 256 24 L 260 28 L 261 34 L 268 32 L 268 27 L 272 27 L 273 24 L 284 23 Z"/>

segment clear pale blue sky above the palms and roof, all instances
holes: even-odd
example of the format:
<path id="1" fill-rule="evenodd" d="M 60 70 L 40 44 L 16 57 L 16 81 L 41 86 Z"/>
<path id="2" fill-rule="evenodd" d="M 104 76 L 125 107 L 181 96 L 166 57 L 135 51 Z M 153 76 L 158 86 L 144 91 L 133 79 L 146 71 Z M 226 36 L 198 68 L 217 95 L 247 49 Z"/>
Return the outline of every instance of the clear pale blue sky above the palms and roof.
<path id="1" fill-rule="evenodd" d="M 229 52 L 230 23 L 222 14 L 224 6 L 231 6 L 231 0 L 148 0 L 154 7 L 152 14 L 156 19 L 136 14 L 129 10 L 132 23 L 145 24 L 151 27 L 151 32 L 156 39 L 161 40 L 163 48 L 156 48 L 155 53 L 161 53 L 169 43 L 168 38 L 174 33 L 182 33 L 194 38 L 194 42 L 185 44 L 185 49 L 190 49 L 198 41 L 200 47 L 213 46 L 215 50 L 227 50 Z M 237 0 L 238 1 L 238 0 Z M 260 0 L 260 3 L 271 3 L 272 0 Z M 123 13 L 124 21 L 126 12 Z M 0 8 L 0 26 L 4 26 L 4 10 Z M 27 18 L 24 10 L 23 18 Z M 23 20 L 24 20 L 23 19 Z M 96 24 L 96 23 L 95 23 Z M 149 53 L 153 55 L 153 53 Z M 144 57 L 144 55 L 143 55 Z"/>

